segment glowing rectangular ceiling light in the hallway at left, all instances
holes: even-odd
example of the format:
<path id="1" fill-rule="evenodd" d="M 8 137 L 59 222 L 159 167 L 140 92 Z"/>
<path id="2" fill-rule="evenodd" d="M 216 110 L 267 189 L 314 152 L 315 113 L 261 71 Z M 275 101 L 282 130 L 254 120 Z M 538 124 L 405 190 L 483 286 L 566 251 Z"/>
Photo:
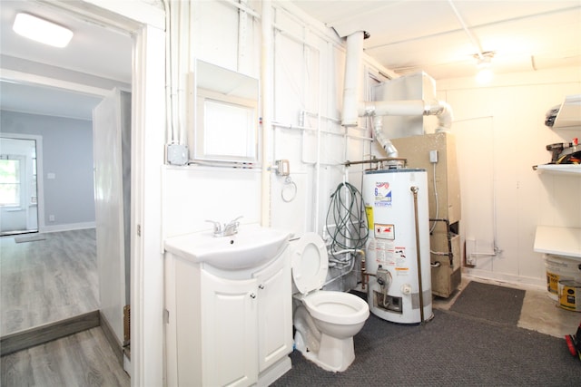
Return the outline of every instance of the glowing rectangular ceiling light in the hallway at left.
<path id="1" fill-rule="evenodd" d="M 73 31 L 39 17 L 18 14 L 12 27 L 16 34 L 54 47 L 65 47 L 73 38 Z"/>

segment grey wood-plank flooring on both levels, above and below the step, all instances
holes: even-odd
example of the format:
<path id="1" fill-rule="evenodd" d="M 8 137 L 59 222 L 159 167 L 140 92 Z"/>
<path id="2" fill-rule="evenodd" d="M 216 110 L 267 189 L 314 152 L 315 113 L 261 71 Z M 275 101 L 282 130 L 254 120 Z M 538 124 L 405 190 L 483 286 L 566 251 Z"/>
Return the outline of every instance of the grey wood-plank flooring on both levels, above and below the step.
<path id="1" fill-rule="evenodd" d="M 95 230 L 0 237 L 0 335 L 99 309 Z M 2 356 L 0 385 L 129 386 L 101 327 Z"/>

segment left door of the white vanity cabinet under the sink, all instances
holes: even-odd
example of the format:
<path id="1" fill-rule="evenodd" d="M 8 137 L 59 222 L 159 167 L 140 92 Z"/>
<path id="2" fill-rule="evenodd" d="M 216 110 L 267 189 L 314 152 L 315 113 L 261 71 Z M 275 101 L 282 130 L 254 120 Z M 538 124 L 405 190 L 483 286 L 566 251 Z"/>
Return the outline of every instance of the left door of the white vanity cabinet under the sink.
<path id="1" fill-rule="evenodd" d="M 257 282 L 202 270 L 202 384 L 247 386 L 258 381 Z"/>

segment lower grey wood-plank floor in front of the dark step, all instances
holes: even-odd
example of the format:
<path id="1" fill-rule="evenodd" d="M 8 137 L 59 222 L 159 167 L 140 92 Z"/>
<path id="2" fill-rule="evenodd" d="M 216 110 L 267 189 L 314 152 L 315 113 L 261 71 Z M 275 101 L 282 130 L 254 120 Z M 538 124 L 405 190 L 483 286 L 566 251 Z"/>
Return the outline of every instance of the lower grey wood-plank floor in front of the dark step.
<path id="1" fill-rule="evenodd" d="M 2 356 L 0 385 L 129 386 L 100 327 Z"/>

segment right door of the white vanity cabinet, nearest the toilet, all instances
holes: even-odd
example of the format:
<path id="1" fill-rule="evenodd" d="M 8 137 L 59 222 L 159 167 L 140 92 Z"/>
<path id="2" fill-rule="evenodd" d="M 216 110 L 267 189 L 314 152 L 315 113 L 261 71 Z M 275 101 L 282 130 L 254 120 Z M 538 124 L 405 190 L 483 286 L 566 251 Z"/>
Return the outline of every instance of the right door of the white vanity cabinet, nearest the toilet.
<path id="1" fill-rule="evenodd" d="M 292 352 L 292 288 L 289 250 L 254 274 L 258 283 L 258 358 L 263 372 Z"/>

